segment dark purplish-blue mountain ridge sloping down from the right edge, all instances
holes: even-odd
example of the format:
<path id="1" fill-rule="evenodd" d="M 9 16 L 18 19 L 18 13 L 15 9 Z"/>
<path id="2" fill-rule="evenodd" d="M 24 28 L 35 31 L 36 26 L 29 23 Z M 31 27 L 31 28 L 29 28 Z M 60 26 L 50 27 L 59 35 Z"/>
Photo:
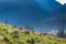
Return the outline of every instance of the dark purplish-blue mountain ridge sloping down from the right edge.
<path id="1" fill-rule="evenodd" d="M 45 24 L 50 25 L 53 30 L 57 30 L 59 25 L 66 28 L 66 4 L 50 12 L 50 15 L 54 15 L 45 21 Z"/>

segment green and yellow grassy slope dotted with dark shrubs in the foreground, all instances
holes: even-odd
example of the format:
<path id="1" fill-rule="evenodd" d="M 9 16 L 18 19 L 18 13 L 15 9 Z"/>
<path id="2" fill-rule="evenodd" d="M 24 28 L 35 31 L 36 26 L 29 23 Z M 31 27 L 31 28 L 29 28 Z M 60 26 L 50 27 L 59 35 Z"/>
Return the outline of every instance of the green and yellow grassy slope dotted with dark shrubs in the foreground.
<path id="1" fill-rule="evenodd" d="M 66 44 L 66 40 L 19 30 L 18 38 L 13 38 L 15 28 L 0 24 L 0 44 Z M 6 38 L 4 38 L 6 37 Z"/>

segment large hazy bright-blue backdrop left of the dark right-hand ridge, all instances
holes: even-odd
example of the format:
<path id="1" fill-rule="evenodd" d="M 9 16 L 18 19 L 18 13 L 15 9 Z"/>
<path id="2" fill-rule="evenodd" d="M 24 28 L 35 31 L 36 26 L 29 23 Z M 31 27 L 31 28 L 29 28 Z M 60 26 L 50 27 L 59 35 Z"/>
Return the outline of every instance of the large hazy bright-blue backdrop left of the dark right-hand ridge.
<path id="1" fill-rule="evenodd" d="M 55 26 L 44 22 L 56 16 L 48 12 L 61 6 L 56 0 L 0 0 L 0 22 L 8 20 L 12 25 L 31 25 L 40 32 L 51 31 Z"/>

